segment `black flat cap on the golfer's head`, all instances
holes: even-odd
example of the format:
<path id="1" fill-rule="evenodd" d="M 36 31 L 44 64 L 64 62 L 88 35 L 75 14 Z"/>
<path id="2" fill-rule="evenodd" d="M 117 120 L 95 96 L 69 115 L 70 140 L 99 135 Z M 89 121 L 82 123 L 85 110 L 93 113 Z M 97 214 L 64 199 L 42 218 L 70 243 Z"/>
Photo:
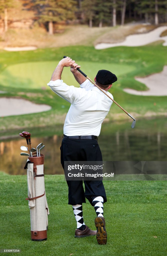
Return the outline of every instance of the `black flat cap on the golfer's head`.
<path id="1" fill-rule="evenodd" d="M 97 72 L 96 80 L 103 85 L 112 84 L 117 81 L 117 77 L 112 72 L 102 69 Z"/>

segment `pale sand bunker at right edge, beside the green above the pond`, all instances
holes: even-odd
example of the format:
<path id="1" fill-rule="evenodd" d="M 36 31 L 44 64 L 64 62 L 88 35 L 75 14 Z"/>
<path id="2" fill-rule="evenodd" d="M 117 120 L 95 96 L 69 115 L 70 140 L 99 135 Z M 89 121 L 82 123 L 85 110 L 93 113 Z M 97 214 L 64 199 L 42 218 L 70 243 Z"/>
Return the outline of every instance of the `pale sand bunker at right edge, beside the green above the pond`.
<path id="1" fill-rule="evenodd" d="M 167 96 L 167 66 L 164 66 L 160 73 L 152 74 L 147 77 L 136 77 L 137 81 L 144 83 L 148 91 L 136 91 L 133 89 L 124 89 L 125 92 L 142 96 Z"/>

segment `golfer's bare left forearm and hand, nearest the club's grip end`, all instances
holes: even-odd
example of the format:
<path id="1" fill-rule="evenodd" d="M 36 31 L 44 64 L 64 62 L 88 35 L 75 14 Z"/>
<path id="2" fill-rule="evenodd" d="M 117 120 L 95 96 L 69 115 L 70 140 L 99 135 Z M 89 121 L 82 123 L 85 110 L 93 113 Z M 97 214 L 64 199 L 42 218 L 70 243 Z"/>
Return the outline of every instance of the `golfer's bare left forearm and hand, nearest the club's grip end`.
<path id="1" fill-rule="evenodd" d="M 66 58 L 60 60 L 59 64 L 57 65 L 57 67 L 53 71 L 51 81 L 61 79 L 61 74 L 62 74 L 63 68 L 64 67 L 70 67 L 73 63 L 75 63 L 75 61 L 72 60 L 69 57 L 66 57 Z"/>

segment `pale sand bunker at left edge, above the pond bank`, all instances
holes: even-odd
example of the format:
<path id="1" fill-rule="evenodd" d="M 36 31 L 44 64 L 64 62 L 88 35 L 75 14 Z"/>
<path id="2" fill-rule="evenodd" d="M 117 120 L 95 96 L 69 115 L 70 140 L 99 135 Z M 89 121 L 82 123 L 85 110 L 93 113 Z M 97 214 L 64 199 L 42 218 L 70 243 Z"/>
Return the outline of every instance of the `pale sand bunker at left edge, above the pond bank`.
<path id="1" fill-rule="evenodd" d="M 35 104 L 28 100 L 16 98 L 0 98 L 0 117 L 10 115 L 22 115 L 48 111 L 51 106 Z"/>

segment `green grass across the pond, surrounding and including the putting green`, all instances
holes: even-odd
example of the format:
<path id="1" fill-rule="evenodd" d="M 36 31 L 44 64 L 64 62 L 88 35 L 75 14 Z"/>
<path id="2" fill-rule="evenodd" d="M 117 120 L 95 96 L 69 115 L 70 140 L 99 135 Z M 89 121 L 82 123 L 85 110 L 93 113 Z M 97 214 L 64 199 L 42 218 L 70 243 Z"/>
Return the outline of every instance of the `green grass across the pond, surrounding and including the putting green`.
<path id="1" fill-rule="evenodd" d="M 12 126 L 10 128 L 17 129 L 26 126 L 49 126 L 64 122 L 65 113 L 68 111 L 70 104 L 51 90 L 42 88 L 46 86 L 55 66 L 64 55 L 72 57 L 79 64 L 81 63 L 81 70 L 87 72 L 91 79 L 94 79 L 98 69 L 111 68 L 111 71 L 114 70 L 118 76 L 118 81 L 113 84 L 110 92 L 116 102 L 136 119 L 166 114 L 166 96 L 143 97 L 130 95 L 123 91 L 127 87 L 146 90 L 146 86 L 136 81 L 134 77 L 160 72 L 163 66 L 167 65 L 166 47 L 162 46 L 162 43 L 142 47 L 115 47 L 104 50 L 95 50 L 94 47 L 86 46 L 70 46 L 27 52 L 1 51 L 0 53 L 0 77 L 3 78 L 0 90 L 6 92 L 0 94 L 0 97 L 22 97 L 35 103 L 49 104 L 52 107 L 48 112 L 4 117 L 0 123 L 1 131 L 8 129 L 9 123 Z M 37 65 L 39 62 L 40 65 Z M 26 74 L 25 67 L 27 67 L 28 74 Z M 41 70 L 44 70 L 44 72 L 41 72 Z M 62 78 L 64 81 L 75 85 L 75 79 L 69 68 L 64 68 L 63 72 Z M 30 73 L 32 73 L 31 76 L 29 76 Z M 5 80 L 4 75 L 6 75 Z M 3 86 L 3 83 L 7 86 Z M 129 117 L 115 104 L 112 105 L 107 118 L 112 121 L 129 120 Z"/>

